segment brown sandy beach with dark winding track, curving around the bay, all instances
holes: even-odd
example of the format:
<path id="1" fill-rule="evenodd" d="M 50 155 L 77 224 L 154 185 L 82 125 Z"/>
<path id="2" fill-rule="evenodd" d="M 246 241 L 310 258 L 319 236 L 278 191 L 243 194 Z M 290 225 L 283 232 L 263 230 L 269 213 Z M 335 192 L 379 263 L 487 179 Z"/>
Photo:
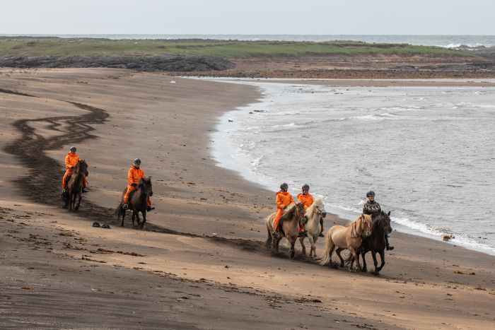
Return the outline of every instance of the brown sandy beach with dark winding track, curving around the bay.
<path id="1" fill-rule="evenodd" d="M 264 247 L 274 192 L 210 152 L 218 117 L 261 98 L 255 87 L 120 69 L 0 69 L 0 81 L 1 329 L 494 324 L 493 256 L 393 232 L 373 276 L 320 266 L 299 245 L 293 260 Z M 60 181 L 72 145 L 91 191 L 69 213 Z M 153 180 L 144 230 L 114 217 L 134 158 Z M 325 228 L 343 223 L 327 216 Z"/>

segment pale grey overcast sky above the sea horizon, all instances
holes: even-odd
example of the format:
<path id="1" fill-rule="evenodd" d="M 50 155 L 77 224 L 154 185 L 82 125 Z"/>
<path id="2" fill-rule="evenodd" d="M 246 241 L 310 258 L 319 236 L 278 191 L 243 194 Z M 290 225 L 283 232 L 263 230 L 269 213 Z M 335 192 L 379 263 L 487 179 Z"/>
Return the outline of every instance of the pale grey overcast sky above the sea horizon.
<path id="1" fill-rule="evenodd" d="M 0 34 L 495 35 L 495 0 L 9 0 Z"/>

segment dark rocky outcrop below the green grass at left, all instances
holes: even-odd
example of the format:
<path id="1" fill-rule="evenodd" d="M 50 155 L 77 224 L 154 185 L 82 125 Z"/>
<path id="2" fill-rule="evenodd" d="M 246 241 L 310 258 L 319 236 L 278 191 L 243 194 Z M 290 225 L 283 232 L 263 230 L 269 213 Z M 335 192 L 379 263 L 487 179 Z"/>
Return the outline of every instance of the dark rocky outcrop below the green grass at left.
<path id="1" fill-rule="evenodd" d="M 232 62 L 202 56 L 36 56 L 0 57 L 0 66 L 13 68 L 119 68 L 137 71 L 221 71 Z"/>

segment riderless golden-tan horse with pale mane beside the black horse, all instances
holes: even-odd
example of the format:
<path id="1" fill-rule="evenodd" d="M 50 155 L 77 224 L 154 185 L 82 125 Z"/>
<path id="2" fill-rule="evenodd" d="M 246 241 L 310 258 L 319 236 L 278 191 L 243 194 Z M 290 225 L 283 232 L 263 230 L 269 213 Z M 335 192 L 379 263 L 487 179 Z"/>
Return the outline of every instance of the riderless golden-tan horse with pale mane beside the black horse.
<path id="1" fill-rule="evenodd" d="M 318 264 L 329 264 L 332 261 L 332 253 L 334 248 L 337 247 L 335 252 L 337 252 L 337 255 L 339 256 L 341 267 L 344 267 L 344 259 L 342 259 L 340 252 L 344 249 L 349 249 L 349 252 L 351 252 L 352 255 L 349 271 L 352 271 L 354 261 L 356 261 L 358 268 L 361 269 L 358 254 L 356 252 L 359 247 L 361 247 L 363 238 L 371 235 L 371 224 L 371 216 L 368 214 L 361 214 L 358 218 L 356 218 L 356 220 L 347 225 L 347 227 L 342 225 L 334 225 L 330 228 L 325 237 L 325 253 L 318 261 Z"/>

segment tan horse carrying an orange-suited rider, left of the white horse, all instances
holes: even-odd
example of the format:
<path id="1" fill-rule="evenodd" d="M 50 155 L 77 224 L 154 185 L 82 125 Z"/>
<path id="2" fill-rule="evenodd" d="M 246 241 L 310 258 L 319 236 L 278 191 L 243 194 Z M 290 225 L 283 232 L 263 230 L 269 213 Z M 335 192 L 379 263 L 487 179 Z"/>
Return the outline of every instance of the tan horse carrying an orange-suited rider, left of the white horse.
<path id="1" fill-rule="evenodd" d="M 299 223 L 303 222 L 304 219 L 304 204 L 290 204 L 287 206 L 287 211 L 284 213 L 284 216 L 280 218 L 279 228 L 281 231 L 281 235 L 278 237 L 272 237 L 272 232 L 274 232 L 275 225 L 275 215 L 276 213 L 272 213 L 267 218 L 267 231 L 268 238 L 264 244 L 268 245 L 273 240 L 273 248 L 276 252 L 279 252 L 279 242 L 283 237 L 291 243 L 291 259 L 296 254 L 296 250 L 294 249 L 294 244 L 296 244 L 297 237 L 299 235 Z"/>

